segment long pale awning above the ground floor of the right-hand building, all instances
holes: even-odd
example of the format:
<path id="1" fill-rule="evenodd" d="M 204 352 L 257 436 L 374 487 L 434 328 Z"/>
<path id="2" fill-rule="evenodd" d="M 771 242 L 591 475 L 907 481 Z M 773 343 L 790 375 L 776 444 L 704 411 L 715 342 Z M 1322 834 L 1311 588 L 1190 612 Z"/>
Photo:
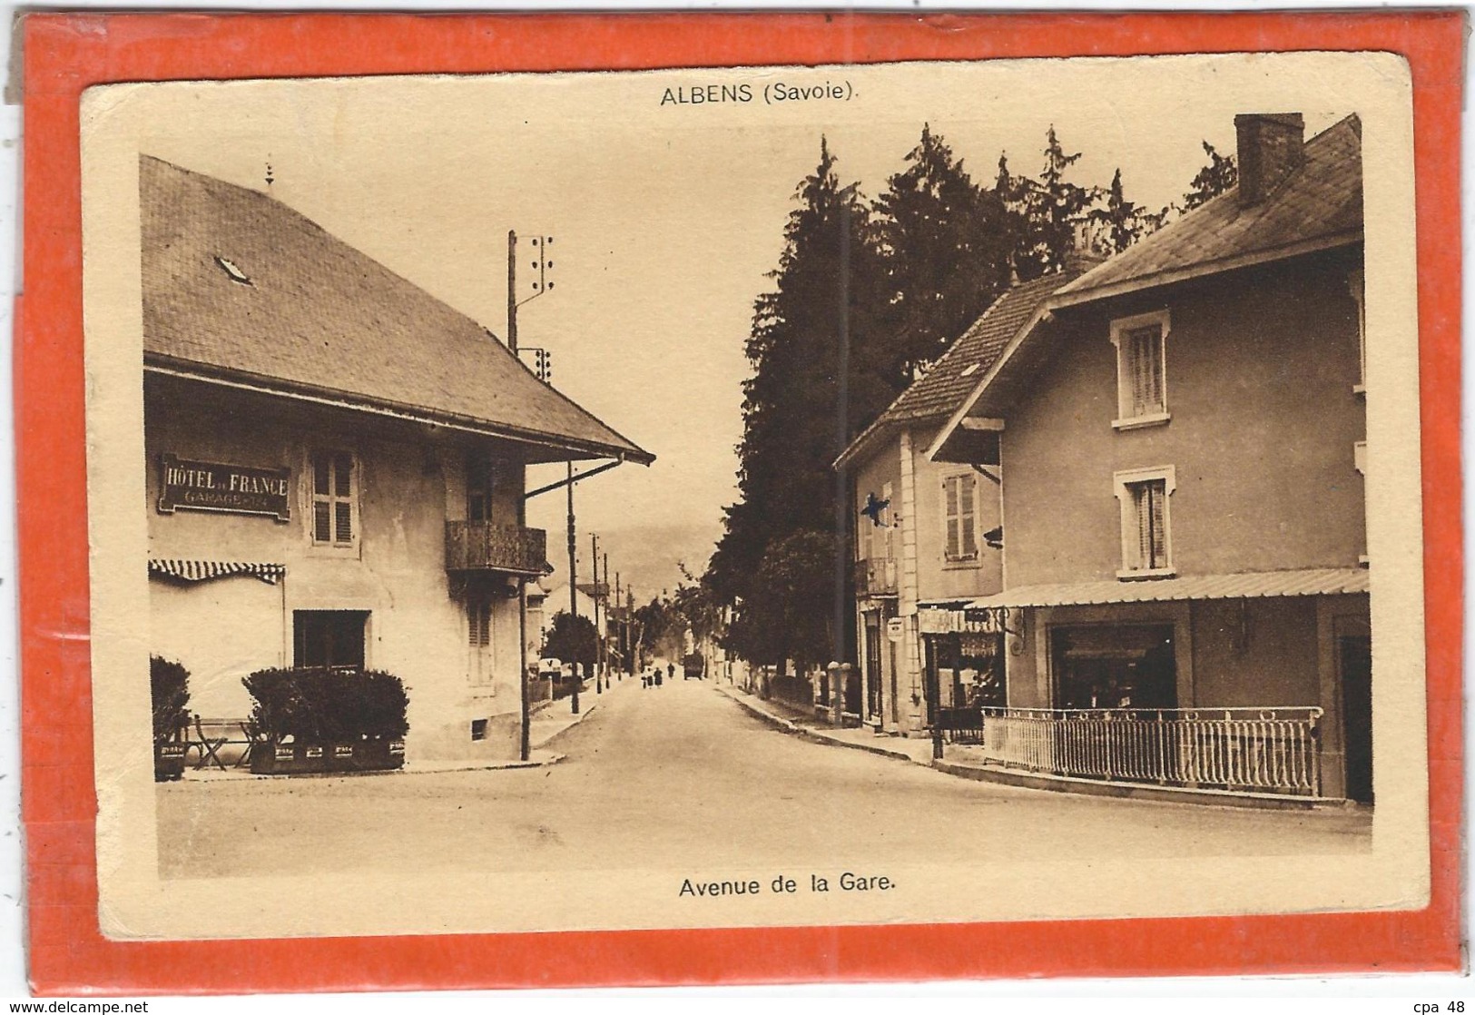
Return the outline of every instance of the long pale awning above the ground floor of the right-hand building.
<path id="1" fill-rule="evenodd" d="M 1150 581 L 1081 581 L 1021 586 L 975 599 L 969 609 L 1013 606 L 1097 606 L 1180 599 L 1270 599 L 1277 596 L 1342 596 L 1367 592 L 1367 568 L 1196 574 Z"/>

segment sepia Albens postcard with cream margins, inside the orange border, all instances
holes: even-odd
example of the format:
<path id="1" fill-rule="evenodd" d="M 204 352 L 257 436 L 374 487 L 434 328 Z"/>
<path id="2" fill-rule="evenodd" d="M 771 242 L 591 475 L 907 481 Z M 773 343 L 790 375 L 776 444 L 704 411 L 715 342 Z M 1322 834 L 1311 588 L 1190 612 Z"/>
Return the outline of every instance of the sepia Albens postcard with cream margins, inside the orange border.
<path id="1" fill-rule="evenodd" d="M 90 89 L 103 932 L 1425 906 L 1410 102 Z"/>

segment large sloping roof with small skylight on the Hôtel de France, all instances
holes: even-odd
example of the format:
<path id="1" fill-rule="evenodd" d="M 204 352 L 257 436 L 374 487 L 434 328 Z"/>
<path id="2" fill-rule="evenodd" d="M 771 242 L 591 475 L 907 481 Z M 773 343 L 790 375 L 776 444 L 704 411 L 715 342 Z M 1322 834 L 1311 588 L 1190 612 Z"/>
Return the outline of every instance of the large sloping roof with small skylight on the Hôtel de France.
<path id="1" fill-rule="evenodd" d="M 543 446 L 535 460 L 653 459 L 279 201 L 150 156 L 139 177 L 148 364 L 473 425 Z"/>

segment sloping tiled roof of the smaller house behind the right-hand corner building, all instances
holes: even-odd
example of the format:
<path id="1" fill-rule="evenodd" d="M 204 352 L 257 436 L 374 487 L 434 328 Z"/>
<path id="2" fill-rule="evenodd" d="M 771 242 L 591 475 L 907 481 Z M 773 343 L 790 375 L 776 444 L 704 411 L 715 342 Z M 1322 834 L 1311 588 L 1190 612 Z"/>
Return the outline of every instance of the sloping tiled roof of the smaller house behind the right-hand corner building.
<path id="1" fill-rule="evenodd" d="M 1031 282 L 1010 286 L 984 314 L 953 342 L 937 363 L 897 395 L 876 420 L 867 426 L 842 457 L 853 457 L 879 431 L 923 419 L 945 419 L 968 397 L 978 379 L 988 372 L 1009 339 L 1030 323 L 1035 311 L 1061 286 L 1081 274 L 1086 266 L 1068 267 Z"/>

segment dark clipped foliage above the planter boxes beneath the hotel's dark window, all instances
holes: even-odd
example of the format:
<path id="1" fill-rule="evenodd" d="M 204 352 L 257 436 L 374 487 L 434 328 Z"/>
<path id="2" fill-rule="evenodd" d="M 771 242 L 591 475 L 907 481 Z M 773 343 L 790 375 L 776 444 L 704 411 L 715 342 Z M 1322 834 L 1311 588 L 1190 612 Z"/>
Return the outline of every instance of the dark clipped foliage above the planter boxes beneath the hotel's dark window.
<path id="1" fill-rule="evenodd" d="M 307 744 L 403 741 L 410 729 L 400 677 L 378 670 L 258 670 L 243 680 L 258 736 Z"/>

